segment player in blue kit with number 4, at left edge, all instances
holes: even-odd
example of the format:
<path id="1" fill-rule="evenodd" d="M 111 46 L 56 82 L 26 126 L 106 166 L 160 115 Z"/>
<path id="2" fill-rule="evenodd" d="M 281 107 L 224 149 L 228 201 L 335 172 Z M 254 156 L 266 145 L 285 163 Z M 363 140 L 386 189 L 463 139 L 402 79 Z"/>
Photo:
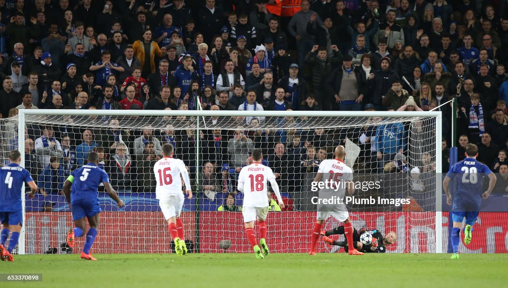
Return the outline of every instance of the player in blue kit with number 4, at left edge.
<path id="1" fill-rule="evenodd" d="M 9 154 L 9 165 L 0 169 L 0 223 L 4 225 L 0 233 L 0 258 L 2 261 L 14 261 L 12 249 L 18 244 L 19 233 L 23 225 L 23 208 L 21 206 L 21 189 L 24 183 L 30 186 L 28 197 L 34 198 L 37 185 L 28 170 L 19 166 L 21 153 L 17 150 Z M 12 232 L 12 233 L 11 233 Z M 7 238 L 9 246 L 5 248 Z"/>

